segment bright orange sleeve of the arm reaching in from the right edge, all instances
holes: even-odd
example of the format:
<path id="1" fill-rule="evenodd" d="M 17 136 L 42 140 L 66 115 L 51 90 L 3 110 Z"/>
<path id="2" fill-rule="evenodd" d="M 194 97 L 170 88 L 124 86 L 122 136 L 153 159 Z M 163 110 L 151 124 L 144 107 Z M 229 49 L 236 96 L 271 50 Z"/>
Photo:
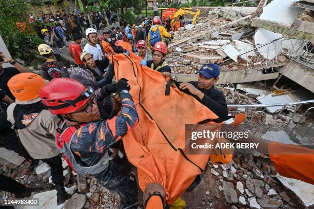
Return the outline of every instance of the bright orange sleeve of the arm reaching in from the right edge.
<path id="1" fill-rule="evenodd" d="M 280 175 L 314 184 L 313 149 L 300 145 L 270 142 L 268 153 Z"/>

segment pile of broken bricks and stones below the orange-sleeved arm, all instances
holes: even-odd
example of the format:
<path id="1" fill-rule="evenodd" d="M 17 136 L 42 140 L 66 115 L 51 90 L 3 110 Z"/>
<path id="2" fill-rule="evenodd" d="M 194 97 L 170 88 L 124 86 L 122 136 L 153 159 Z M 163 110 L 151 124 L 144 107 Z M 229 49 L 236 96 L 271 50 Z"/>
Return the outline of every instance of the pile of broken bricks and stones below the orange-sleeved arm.
<path id="1" fill-rule="evenodd" d="M 281 185 L 282 177 L 266 156 L 239 155 L 230 164 L 208 165 L 230 208 L 301 208 L 304 205 L 304 200 L 287 189 L 288 186 Z M 314 189 L 313 185 L 308 186 Z"/>

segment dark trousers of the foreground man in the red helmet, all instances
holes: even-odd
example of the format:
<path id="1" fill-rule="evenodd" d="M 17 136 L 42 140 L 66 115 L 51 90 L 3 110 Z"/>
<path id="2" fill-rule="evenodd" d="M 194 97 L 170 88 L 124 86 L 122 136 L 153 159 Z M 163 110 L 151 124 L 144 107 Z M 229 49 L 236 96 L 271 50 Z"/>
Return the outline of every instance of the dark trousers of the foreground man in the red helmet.
<path id="1" fill-rule="evenodd" d="M 122 159 L 116 156 L 113 160 L 110 160 L 107 169 L 94 176 L 109 191 L 119 194 L 122 208 L 125 208 L 134 204 L 138 197 L 138 185 L 135 179 L 130 179 L 130 174 L 130 162 L 124 155 Z"/>

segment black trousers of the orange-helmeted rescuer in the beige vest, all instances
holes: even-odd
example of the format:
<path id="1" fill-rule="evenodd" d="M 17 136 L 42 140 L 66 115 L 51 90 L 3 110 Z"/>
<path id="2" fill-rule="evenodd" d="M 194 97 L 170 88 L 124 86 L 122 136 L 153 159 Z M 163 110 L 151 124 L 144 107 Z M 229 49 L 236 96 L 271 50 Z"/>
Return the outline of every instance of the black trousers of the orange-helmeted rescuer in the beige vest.
<path id="1" fill-rule="evenodd" d="M 60 155 L 57 155 L 48 159 L 41 159 L 44 163 L 47 163 L 50 167 L 51 180 L 55 185 L 63 185 L 63 167 Z"/>

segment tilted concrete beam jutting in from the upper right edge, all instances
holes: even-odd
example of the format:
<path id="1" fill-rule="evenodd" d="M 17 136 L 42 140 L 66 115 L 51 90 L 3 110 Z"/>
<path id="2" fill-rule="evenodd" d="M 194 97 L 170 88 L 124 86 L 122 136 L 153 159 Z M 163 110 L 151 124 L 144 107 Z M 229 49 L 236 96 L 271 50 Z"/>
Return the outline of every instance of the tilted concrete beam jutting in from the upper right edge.
<path id="1" fill-rule="evenodd" d="M 292 39 L 302 39 L 309 42 L 314 41 L 314 23 L 311 22 L 296 20 L 292 25 L 287 25 L 256 17 L 252 19 L 251 26 L 281 33 L 283 36 Z"/>

